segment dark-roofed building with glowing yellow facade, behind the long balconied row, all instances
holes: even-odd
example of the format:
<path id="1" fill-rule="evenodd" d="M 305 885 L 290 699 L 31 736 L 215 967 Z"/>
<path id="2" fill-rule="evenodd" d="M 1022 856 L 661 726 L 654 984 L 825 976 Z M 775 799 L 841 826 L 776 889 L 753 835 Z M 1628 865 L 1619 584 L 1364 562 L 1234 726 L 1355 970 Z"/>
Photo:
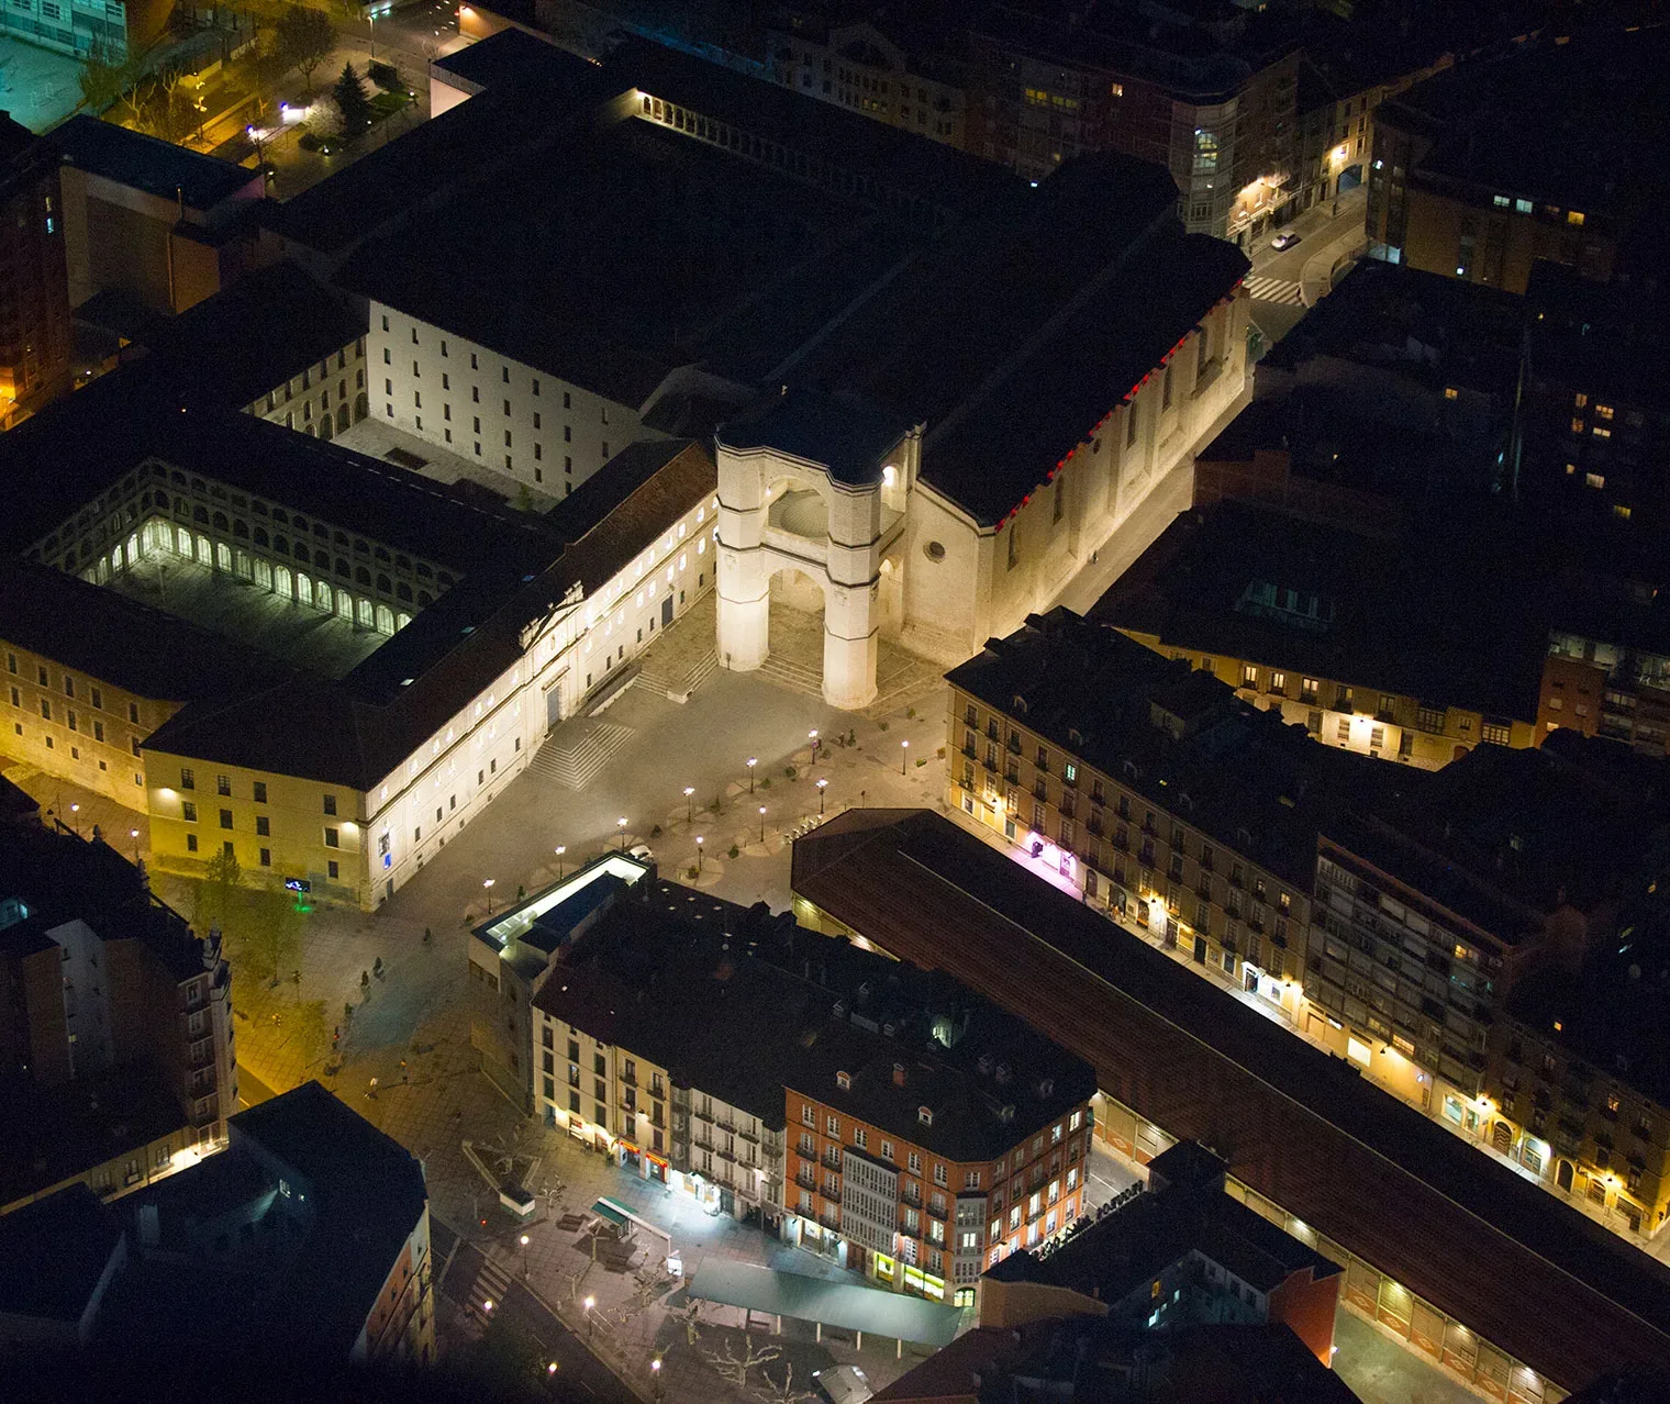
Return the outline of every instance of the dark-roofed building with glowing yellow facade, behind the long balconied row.
<path id="1" fill-rule="evenodd" d="M 1480 745 L 1533 746 L 1573 715 L 1541 705 L 1538 571 L 1488 513 L 1386 539 L 1219 501 L 1179 516 L 1089 618 L 1324 746 L 1438 770 Z"/>

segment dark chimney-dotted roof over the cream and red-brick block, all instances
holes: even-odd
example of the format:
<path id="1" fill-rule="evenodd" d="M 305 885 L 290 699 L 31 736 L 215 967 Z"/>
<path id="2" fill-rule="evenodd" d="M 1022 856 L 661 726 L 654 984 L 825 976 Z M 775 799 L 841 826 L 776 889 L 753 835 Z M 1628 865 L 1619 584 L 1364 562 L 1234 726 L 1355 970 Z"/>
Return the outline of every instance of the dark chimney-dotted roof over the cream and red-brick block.
<path id="1" fill-rule="evenodd" d="M 915 1145 L 990 1160 L 1094 1092 L 1086 1063 L 995 1005 L 942 977 L 802 930 L 788 915 L 715 905 L 666 881 L 611 888 L 608 896 L 606 913 L 563 950 L 534 1005 L 768 1125 L 783 1124 L 790 1087 L 847 1105 Z M 571 925 L 581 915 L 561 920 Z M 558 945 L 553 932 L 539 940 L 541 948 Z M 656 988 L 686 997 L 670 1012 L 665 1000 L 645 998 Z M 934 1038 L 939 1013 L 960 1020 L 954 1047 Z M 893 1037 L 880 1032 L 883 1023 L 895 1025 Z M 977 1070 L 982 1053 L 1020 1077 L 999 1085 Z M 897 1062 L 907 1065 L 905 1087 L 893 1082 Z M 838 1085 L 837 1072 L 850 1073 L 850 1087 Z M 1054 1083 L 1047 1093 L 1044 1078 Z M 1002 1104 L 1015 1105 L 1012 1122 L 1000 1117 Z M 934 1109 L 932 1125 L 917 1117 L 924 1105 Z"/>

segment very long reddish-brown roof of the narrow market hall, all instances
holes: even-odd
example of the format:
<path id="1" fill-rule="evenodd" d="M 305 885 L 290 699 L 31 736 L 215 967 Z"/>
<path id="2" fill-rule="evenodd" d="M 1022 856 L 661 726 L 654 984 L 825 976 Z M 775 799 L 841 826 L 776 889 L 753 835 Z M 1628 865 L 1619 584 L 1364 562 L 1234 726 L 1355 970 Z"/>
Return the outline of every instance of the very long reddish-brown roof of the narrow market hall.
<path id="1" fill-rule="evenodd" d="M 1670 1356 L 1663 1264 L 949 818 L 847 811 L 795 843 L 792 888 L 1049 1022 L 1114 1095 L 1556 1384 Z"/>

